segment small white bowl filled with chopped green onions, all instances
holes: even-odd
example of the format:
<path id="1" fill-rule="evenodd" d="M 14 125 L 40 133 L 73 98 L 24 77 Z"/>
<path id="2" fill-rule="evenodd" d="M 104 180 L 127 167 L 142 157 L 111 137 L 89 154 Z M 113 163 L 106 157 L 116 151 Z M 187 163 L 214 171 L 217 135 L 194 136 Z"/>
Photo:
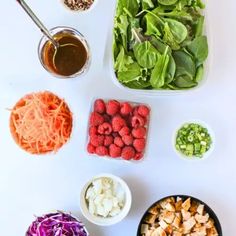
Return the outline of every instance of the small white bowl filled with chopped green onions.
<path id="1" fill-rule="evenodd" d="M 213 151 L 214 133 L 202 121 L 182 124 L 174 134 L 174 149 L 185 160 L 201 160 Z"/>

